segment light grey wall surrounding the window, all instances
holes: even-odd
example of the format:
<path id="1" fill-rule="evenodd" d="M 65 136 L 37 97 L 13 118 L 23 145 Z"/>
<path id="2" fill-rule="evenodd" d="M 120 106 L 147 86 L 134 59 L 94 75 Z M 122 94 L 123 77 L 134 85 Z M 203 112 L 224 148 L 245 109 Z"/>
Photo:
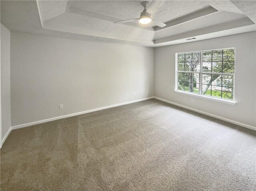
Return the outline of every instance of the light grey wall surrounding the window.
<path id="1" fill-rule="evenodd" d="M 249 126 L 256 126 L 256 33 L 155 48 L 154 95 Z M 235 47 L 235 105 L 175 93 L 175 53 Z M 191 102 L 194 98 L 194 102 Z"/>

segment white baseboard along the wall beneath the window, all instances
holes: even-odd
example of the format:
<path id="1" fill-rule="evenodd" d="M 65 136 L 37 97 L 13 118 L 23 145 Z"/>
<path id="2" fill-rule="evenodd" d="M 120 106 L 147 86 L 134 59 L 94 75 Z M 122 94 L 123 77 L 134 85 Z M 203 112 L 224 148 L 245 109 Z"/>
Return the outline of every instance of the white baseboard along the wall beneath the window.
<path id="1" fill-rule="evenodd" d="M 204 114 L 204 115 L 208 115 L 208 116 L 211 116 L 211 117 L 214 117 L 214 118 L 217 118 L 217 119 L 220 119 L 220 120 L 223 120 L 223 121 L 226 121 L 226 122 L 230 122 L 232 124 L 236 124 L 236 125 L 239 125 L 239 126 L 242 126 L 242 127 L 245 127 L 245 128 L 252 129 L 252 130 L 256 131 L 256 127 L 254 127 L 254 126 L 250 126 L 250 125 L 243 124 L 243 123 L 240 123 L 240 122 L 237 122 L 237 121 L 233 121 L 233 120 L 221 117 L 221 116 L 217 116 L 217 115 L 210 114 L 210 113 L 207 113 L 207 112 L 204 112 L 204 111 L 201 111 L 201 110 L 197 110 L 197 109 L 194 109 L 194 108 L 191 108 L 191 107 L 188 107 L 188 106 L 177 104 L 177 103 L 174 103 L 174 102 L 162 99 L 162 98 L 158 98 L 158 97 L 154 97 L 154 98 L 156 98 L 158 100 L 161 100 L 161 101 L 164 101 L 164 102 L 167 102 L 167 103 L 170 103 L 170 104 L 173 104 L 173 105 L 176 105 L 176 106 L 179 106 L 179 107 L 182 107 L 182 108 L 185 108 L 185 109 L 188 109 L 188 110 L 192 110 L 192 111 Z"/>

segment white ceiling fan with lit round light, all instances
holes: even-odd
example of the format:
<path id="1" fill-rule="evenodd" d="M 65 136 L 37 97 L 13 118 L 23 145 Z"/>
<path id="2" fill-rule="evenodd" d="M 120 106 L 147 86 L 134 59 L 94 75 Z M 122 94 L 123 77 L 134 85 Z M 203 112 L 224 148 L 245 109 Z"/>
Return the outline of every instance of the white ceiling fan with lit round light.
<path id="1" fill-rule="evenodd" d="M 166 24 L 150 17 L 154 12 L 156 12 L 156 10 L 161 2 L 162 2 L 161 0 L 158 0 L 158 1 L 153 0 L 150 3 L 150 6 L 148 6 L 148 1 L 143 1 L 141 4 L 142 4 L 142 6 L 144 6 L 144 10 L 141 12 L 140 18 L 128 19 L 128 20 L 118 21 L 118 22 L 114 22 L 114 23 L 121 24 L 121 23 L 126 23 L 126 22 L 140 22 L 141 24 L 144 24 L 144 25 L 149 24 L 151 26 L 164 27 L 164 26 L 166 26 Z M 147 6 L 148 6 L 148 8 L 147 8 Z"/>

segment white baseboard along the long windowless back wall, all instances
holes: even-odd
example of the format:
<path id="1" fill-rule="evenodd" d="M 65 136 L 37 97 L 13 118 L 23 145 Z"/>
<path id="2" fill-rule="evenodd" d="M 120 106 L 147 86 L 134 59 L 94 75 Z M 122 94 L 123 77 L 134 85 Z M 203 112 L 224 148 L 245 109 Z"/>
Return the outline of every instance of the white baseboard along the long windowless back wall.
<path id="1" fill-rule="evenodd" d="M 35 122 L 30 122 L 30 123 L 26 123 L 26 124 L 20 124 L 20 125 L 12 126 L 12 129 L 19 129 L 19 128 L 23 128 L 23 127 L 28 127 L 28 126 L 40 124 L 40 123 L 45 123 L 45 122 L 49 122 L 49 121 L 54 121 L 54 120 L 58 120 L 58 119 L 63 119 L 63 118 L 68 118 L 68 117 L 72 117 L 72 116 L 77 116 L 77 115 L 86 114 L 86 113 L 90 113 L 90 112 L 94 112 L 94 111 L 99 111 L 99 110 L 103 110 L 103 109 L 108 109 L 108 108 L 112 108 L 112 107 L 116 107 L 116 106 L 120 106 L 120 105 L 126 105 L 126 104 L 130 104 L 130 103 L 140 102 L 140 101 L 144 101 L 144 100 L 148 100 L 148 99 L 152 99 L 152 98 L 154 98 L 154 97 L 142 98 L 142 99 L 138 99 L 138 100 L 134 100 L 134 101 L 128 101 L 128 102 L 124 102 L 124 103 L 119 103 L 119 104 L 114 104 L 114 105 L 110 105 L 110 106 L 100 107 L 100 108 L 96 108 L 96 109 L 86 110 L 86 111 L 82 111 L 82 112 L 72 113 L 72 114 L 68 114 L 68 115 L 48 118 L 48 119 L 44 119 L 44 120 L 40 120 L 40 121 L 35 121 Z"/>

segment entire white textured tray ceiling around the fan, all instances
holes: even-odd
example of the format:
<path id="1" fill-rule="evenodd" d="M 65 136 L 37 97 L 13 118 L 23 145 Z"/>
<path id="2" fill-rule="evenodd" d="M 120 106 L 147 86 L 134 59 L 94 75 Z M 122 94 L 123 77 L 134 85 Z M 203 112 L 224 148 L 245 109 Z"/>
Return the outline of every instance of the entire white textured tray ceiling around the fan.
<path id="1" fill-rule="evenodd" d="M 73 39 L 160 46 L 255 30 L 256 1 L 164 0 L 152 18 L 159 28 L 135 22 L 143 10 L 138 0 L 1 0 L 1 22 L 12 31 Z M 150 3 L 149 1 L 149 7 Z"/>

